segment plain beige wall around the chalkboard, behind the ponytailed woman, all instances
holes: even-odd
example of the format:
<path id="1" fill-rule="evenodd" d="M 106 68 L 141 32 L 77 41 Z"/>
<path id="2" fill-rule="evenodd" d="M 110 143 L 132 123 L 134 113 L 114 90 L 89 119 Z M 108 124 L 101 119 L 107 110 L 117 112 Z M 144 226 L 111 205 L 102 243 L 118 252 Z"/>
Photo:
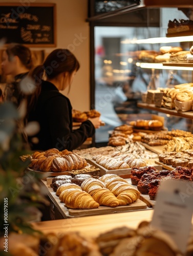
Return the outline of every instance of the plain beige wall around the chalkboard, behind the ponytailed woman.
<path id="1" fill-rule="evenodd" d="M 5 1 L 0 1 L 5 2 Z M 57 24 L 56 48 L 68 48 L 80 62 L 71 91 L 63 92 L 71 100 L 76 110 L 89 110 L 90 106 L 90 75 L 89 75 L 89 24 L 87 18 L 87 0 L 10 0 L 9 3 L 55 3 Z M 42 14 L 44 15 L 44 14 Z M 78 39 L 81 38 L 81 39 Z M 42 48 L 31 48 L 32 50 Z M 55 48 L 44 48 L 46 54 Z"/>

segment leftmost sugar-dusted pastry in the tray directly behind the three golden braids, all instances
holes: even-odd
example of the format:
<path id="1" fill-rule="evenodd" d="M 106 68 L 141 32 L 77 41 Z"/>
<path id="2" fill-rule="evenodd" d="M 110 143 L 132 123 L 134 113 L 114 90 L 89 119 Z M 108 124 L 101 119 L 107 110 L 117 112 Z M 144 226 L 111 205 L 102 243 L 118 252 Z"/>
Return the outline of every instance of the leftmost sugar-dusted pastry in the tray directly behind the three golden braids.
<path id="1" fill-rule="evenodd" d="M 106 168 L 108 170 L 130 168 L 130 166 L 127 163 L 125 163 L 123 161 L 118 161 L 112 157 L 97 155 L 97 156 L 95 156 L 94 159 L 95 159 L 96 163 L 102 165 L 104 168 Z"/>

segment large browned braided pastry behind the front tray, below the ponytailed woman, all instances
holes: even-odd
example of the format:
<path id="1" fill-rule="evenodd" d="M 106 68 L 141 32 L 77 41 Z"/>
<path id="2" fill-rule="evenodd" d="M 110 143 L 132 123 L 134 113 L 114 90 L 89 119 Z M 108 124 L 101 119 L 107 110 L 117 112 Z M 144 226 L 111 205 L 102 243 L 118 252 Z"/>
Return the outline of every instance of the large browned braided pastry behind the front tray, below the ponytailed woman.
<path id="1" fill-rule="evenodd" d="M 87 166 L 87 161 L 68 150 L 59 152 L 52 148 L 45 152 L 35 152 L 32 155 L 30 168 L 42 172 L 66 172 Z"/>

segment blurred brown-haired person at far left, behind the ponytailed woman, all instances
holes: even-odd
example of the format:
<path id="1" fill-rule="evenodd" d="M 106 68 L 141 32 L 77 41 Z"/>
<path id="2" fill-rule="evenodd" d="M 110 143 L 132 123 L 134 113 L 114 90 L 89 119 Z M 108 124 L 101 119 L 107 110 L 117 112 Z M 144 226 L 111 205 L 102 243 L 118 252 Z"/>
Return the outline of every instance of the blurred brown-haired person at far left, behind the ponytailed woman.
<path id="1" fill-rule="evenodd" d="M 13 78 L 13 81 L 6 85 L 5 101 L 11 101 L 18 107 L 25 97 L 20 89 L 20 82 L 33 67 L 30 49 L 20 44 L 8 45 L 3 51 L 1 66 L 3 74 Z"/>

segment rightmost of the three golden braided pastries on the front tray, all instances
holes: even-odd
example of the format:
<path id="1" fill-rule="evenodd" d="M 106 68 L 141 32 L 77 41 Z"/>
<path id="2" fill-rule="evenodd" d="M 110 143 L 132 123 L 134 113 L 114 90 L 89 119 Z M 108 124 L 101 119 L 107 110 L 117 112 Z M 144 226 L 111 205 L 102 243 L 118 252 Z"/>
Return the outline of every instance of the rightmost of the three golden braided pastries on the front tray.
<path id="1" fill-rule="evenodd" d="M 103 180 L 106 188 L 109 188 L 109 190 L 117 197 L 119 205 L 131 204 L 139 198 L 139 191 L 125 182 L 125 180 L 120 178 L 118 175 L 117 177 L 115 175 L 112 177 L 111 175 L 104 176 L 99 179 Z"/>

